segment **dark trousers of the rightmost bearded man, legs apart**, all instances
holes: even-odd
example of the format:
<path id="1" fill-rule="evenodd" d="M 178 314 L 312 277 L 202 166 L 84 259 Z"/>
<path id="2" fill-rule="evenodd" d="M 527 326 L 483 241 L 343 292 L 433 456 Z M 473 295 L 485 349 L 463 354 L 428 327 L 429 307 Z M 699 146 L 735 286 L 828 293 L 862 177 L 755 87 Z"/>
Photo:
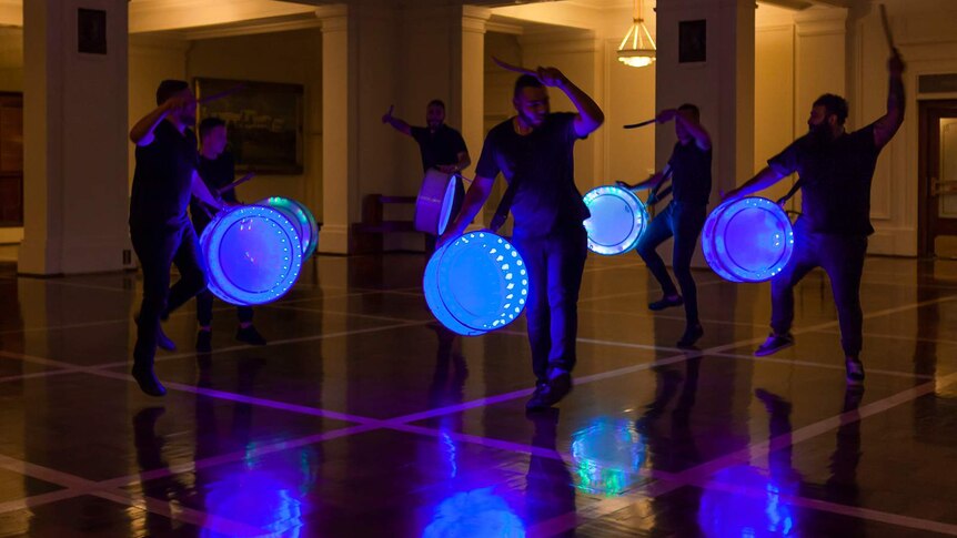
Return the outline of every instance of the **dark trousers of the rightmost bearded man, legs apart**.
<path id="1" fill-rule="evenodd" d="M 837 306 L 840 346 L 844 354 L 860 353 L 864 314 L 860 309 L 860 275 L 867 254 L 866 235 L 822 234 L 809 231 L 798 219 L 794 225 L 794 253 L 784 271 L 770 281 L 770 328 L 776 334 L 790 331 L 794 322 L 794 286 L 810 270 L 822 267 L 830 278 L 830 291 Z"/>

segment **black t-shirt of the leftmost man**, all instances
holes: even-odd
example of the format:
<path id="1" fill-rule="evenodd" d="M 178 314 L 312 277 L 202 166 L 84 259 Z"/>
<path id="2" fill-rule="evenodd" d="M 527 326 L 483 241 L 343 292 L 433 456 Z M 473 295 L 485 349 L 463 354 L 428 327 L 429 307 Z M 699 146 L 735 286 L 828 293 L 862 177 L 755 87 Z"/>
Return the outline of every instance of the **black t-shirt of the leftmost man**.
<path id="1" fill-rule="evenodd" d="M 193 131 L 187 129 L 180 134 L 167 120 L 153 130 L 150 145 L 137 146 L 131 225 L 167 226 L 187 222 L 197 155 Z"/>

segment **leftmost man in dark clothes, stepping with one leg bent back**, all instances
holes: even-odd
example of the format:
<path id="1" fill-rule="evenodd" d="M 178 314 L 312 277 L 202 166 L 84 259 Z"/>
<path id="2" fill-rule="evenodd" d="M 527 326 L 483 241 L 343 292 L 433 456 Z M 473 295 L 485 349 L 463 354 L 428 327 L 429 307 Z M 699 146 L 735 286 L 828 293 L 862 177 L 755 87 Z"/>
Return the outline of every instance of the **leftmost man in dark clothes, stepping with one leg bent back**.
<path id="1" fill-rule="evenodd" d="M 167 393 L 153 373 L 157 345 L 175 348 L 160 328 L 160 318 L 201 292 L 206 277 L 197 233 L 187 215 L 190 195 L 222 209 L 197 173 L 197 100 L 182 80 L 164 80 L 157 104 L 130 131 L 137 144 L 137 169 L 130 200 L 130 238 L 143 270 L 143 303 L 133 348 L 133 378 L 151 396 Z M 170 265 L 180 280 L 170 288 Z"/>

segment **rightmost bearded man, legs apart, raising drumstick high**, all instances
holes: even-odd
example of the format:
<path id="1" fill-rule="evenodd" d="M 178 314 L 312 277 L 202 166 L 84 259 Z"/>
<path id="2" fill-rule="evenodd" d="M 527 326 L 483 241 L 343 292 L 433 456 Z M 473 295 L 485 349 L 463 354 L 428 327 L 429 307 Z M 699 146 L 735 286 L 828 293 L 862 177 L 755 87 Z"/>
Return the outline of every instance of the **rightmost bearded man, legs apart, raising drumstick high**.
<path id="1" fill-rule="evenodd" d="M 772 333 L 755 351 L 765 356 L 794 344 L 794 286 L 813 268 L 830 278 L 837 305 L 846 379 L 864 383 L 862 347 L 860 275 L 870 226 L 870 182 L 877 156 L 904 122 L 904 61 L 897 54 L 887 62 L 887 112 L 854 132 L 844 130 L 847 102 L 825 94 L 814 102 L 807 124 L 810 131 L 768 161 L 741 187 L 727 193 L 735 200 L 762 191 L 797 172 L 802 189 L 802 216 L 794 225 L 794 254 L 772 280 Z"/>

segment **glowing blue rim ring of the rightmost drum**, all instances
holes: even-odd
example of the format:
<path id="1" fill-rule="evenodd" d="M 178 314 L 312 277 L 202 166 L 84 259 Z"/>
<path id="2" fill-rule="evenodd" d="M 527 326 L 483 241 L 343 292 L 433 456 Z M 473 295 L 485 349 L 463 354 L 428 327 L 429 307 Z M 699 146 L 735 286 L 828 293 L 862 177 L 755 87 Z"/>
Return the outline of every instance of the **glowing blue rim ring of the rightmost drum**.
<path id="1" fill-rule="evenodd" d="M 743 206 L 737 207 L 738 205 Z M 778 260 L 772 264 L 772 267 L 777 267 L 775 271 L 766 270 L 757 272 L 746 270 L 738 265 L 737 262 L 735 262 L 733 266 L 726 266 L 726 264 L 721 263 L 721 253 L 724 253 L 734 262 L 734 257 L 725 247 L 722 233 L 727 229 L 728 223 L 737 213 L 748 207 L 756 207 L 774 215 L 784 216 L 778 220 L 778 222 L 784 224 L 785 230 L 784 248 L 782 250 L 782 254 Z M 729 210 L 733 210 L 734 213 L 732 213 L 728 219 L 725 219 L 725 214 Z M 708 241 L 707 237 L 711 237 L 711 241 Z M 784 271 L 784 267 L 790 261 L 790 256 L 794 254 L 794 226 L 790 223 L 790 219 L 788 219 L 787 214 L 784 213 L 784 210 L 782 210 L 775 202 L 764 196 L 745 196 L 725 201 L 715 207 L 715 210 L 712 211 L 705 220 L 705 225 L 702 232 L 702 251 L 708 266 L 727 281 L 748 283 L 765 282 Z"/>

